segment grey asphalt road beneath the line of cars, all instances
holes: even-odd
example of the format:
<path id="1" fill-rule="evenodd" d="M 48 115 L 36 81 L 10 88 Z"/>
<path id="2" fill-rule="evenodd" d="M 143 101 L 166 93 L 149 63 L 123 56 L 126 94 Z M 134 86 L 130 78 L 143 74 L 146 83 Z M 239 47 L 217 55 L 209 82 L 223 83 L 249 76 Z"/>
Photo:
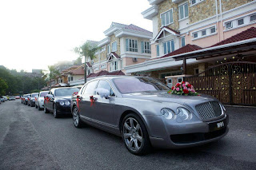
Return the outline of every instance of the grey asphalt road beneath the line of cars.
<path id="1" fill-rule="evenodd" d="M 256 169 L 256 109 L 226 109 L 230 132 L 222 140 L 134 156 L 118 136 L 7 101 L 0 105 L 0 169 Z"/>

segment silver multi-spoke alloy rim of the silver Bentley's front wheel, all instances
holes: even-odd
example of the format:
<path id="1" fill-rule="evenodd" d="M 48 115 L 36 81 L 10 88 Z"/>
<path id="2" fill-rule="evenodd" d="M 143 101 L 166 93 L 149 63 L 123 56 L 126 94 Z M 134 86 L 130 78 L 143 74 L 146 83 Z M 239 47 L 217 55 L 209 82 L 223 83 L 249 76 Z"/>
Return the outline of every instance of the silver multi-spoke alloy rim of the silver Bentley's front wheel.
<path id="1" fill-rule="evenodd" d="M 122 127 L 123 138 L 127 148 L 131 151 L 138 152 L 142 148 L 143 136 L 142 128 L 133 117 L 128 117 Z"/>

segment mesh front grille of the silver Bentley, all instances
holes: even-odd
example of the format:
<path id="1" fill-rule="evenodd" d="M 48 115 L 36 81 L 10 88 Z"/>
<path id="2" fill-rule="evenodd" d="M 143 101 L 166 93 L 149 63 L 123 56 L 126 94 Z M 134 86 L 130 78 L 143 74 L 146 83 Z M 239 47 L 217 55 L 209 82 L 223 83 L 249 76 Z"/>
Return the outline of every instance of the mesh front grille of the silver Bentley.
<path id="1" fill-rule="evenodd" d="M 218 104 L 217 101 L 211 101 L 200 105 L 196 105 L 195 109 L 197 109 L 200 117 L 203 120 L 212 119 L 214 117 L 219 117 L 222 115 L 221 106 Z"/>

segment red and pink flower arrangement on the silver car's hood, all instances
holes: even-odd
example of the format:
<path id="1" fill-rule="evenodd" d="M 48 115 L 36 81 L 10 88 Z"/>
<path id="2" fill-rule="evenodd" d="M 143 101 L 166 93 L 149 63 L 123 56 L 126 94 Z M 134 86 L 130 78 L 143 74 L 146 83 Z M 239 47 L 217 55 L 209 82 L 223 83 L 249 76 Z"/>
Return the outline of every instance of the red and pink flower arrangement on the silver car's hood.
<path id="1" fill-rule="evenodd" d="M 182 81 L 182 83 L 177 83 L 168 91 L 168 93 L 185 96 L 198 96 L 198 93 L 195 92 L 193 85 L 190 85 L 189 82 L 185 81 Z"/>

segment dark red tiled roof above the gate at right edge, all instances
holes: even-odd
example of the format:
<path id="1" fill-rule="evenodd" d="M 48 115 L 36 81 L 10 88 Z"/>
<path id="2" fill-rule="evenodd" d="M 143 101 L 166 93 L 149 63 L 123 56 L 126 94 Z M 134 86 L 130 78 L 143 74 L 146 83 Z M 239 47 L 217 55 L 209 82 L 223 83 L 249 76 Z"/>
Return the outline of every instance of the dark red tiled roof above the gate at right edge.
<path id="1" fill-rule="evenodd" d="M 211 45 L 210 47 L 230 44 L 233 42 L 240 42 L 242 40 L 247 40 L 250 38 L 256 38 L 256 28 L 255 27 L 251 27 L 248 30 L 244 30 L 241 33 L 235 34 L 234 36 L 232 36 L 230 38 L 226 38 L 226 40 L 223 40 L 222 42 L 218 42 L 214 45 Z"/>

